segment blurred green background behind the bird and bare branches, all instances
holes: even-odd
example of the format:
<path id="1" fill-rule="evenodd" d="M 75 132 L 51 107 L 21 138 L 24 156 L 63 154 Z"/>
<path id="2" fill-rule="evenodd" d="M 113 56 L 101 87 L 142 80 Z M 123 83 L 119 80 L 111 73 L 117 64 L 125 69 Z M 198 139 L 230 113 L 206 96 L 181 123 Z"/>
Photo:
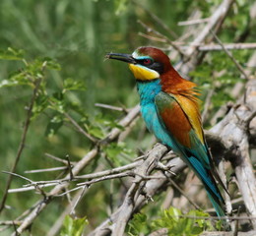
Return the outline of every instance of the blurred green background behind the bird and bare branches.
<path id="1" fill-rule="evenodd" d="M 159 16 L 169 29 L 180 35 L 183 28 L 177 26 L 179 21 L 186 21 L 195 9 L 201 10 L 205 14 L 203 17 L 209 17 L 212 7 L 218 6 L 220 2 L 219 0 L 208 2 L 203 0 L 1 0 L 0 50 L 4 51 L 8 47 L 23 49 L 29 62 L 43 57 L 56 60 L 61 70 L 47 71 L 45 75 L 48 94 L 62 89 L 64 80 L 68 78 L 82 81 L 87 89 L 70 91 L 67 93 L 67 99 L 78 104 L 92 123 L 97 122 L 97 119 L 102 116 L 117 119 L 120 118 L 120 113 L 96 108 L 95 103 L 132 107 L 139 99 L 134 79 L 127 65 L 105 61 L 105 53 L 110 51 L 130 53 L 138 46 L 149 44 L 165 46 L 138 35 L 139 31 L 145 32 L 145 29 L 138 24 L 138 20 L 158 29 L 170 39 L 175 39 L 149 15 L 146 9 Z M 230 13 L 222 35 L 225 41 L 232 41 L 235 37 L 238 39 L 245 31 L 245 26 L 249 25 L 250 5 L 246 1 L 238 2 L 241 6 L 238 8 L 240 15 L 234 14 L 233 11 Z M 253 34 L 250 34 L 246 40 L 250 41 L 252 38 Z M 237 55 L 248 58 L 250 52 Z M 10 74 L 23 66 L 21 61 L 1 60 L 0 81 L 7 79 Z M 0 89 L 1 170 L 10 170 L 14 162 L 26 119 L 25 108 L 31 96 L 32 89 L 28 87 Z M 24 174 L 25 170 L 58 165 L 46 158 L 45 152 L 59 157 L 69 154 L 72 160 L 78 160 L 92 148 L 90 142 L 67 126 L 61 127 L 58 135 L 45 137 L 45 129 L 49 122 L 47 115 L 42 113 L 32 121 L 17 173 Z M 133 135 L 136 136 L 136 134 Z M 150 137 L 145 138 L 143 148 L 147 148 L 150 142 Z M 131 138 L 129 148 L 135 151 L 134 149 L 140 147 L 135 141 L 132 142 Z M 93 163 L 88 171 L 93 171 L 96 164 L 97 162 Z M 28 174 L 27 176 L 33 180 L 44 180 L 55 178 L 56 175 Z M 0 198 L 2 198 L 6 180 L 7 175 L 0 173 Z M 23 184 L 25 184 L 24 181 L 15 178 L 12 188 L 19 188 Z M 81 215 L 87 214 L 93 219 L 91 221 L 93 226 L 96 226 L 96 223 L 106 216 L 104 210 L 108 205 L 108 196 L 104 189 L 108 190 L 109 185 L 109 183 L 100 184 L 91 191 L 90 196 L 95 196 L 94 207 L 90 207 L 90 202 L 87 200 L 81 207 Z M 15 219 L 39 198 L 40 196 L 32 192 L 9 195 L 7 205 L 11 208 L 1 213 L 0 219 Z M 34 235 L 47 232 L 62 212 L 62 205 L 65 204 L 56 201 L 56 204 L 50 205 L 36 220 L 33 226 L 33 232 L 36 232 Z M 8 233 L 10 232 L 6 235 L 9 235 Z"/>

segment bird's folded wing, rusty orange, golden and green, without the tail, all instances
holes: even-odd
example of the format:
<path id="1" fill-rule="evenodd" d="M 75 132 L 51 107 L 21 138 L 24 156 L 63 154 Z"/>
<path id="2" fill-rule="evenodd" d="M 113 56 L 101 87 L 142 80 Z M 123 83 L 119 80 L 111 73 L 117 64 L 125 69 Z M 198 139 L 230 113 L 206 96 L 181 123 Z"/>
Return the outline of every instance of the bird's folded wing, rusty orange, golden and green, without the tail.
<path id="1" fill-rule="evenodd" d="M 178 148 L 191 152 L 204 166 L 211 168 L 211 159 L 205 144 L 197 101 L 183 95 L 161 91 L 155 99 L 162 125 Z"/>

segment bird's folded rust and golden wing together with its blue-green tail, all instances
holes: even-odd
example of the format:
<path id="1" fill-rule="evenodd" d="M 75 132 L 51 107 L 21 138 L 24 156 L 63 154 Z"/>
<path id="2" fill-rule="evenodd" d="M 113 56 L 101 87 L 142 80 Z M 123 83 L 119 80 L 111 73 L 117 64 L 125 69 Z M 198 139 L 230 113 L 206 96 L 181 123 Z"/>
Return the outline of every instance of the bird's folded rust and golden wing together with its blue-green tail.
<path id="1" fill-rule="evenodd" d="M 160 122 L 174 141 L 173 144 L 181 157 L 203 181 L 210 197 L 214 198 L 218 205 L 224 204 L 213 177 L 221 181 L 218 173 L 214 171 L 214 164 L 205 144 L 197 101 L 160 91 L 155 98 L 155 104 Z M 223 182 L 221 184 L 224 187 Z"/>

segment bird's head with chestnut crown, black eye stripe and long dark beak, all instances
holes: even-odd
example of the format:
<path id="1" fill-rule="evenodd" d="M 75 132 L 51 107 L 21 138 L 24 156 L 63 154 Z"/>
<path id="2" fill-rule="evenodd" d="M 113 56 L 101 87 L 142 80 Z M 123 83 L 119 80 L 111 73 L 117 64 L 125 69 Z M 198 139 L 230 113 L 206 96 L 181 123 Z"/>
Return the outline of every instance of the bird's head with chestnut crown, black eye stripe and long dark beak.
<path id="1" fill-rule="evenodd" d="M 151 81 L 172 69 L 169 58 L 156 47 L 139 47 L 132 54 L 108 53 L 106 58 L 129 63 L 138 81 Z"/>

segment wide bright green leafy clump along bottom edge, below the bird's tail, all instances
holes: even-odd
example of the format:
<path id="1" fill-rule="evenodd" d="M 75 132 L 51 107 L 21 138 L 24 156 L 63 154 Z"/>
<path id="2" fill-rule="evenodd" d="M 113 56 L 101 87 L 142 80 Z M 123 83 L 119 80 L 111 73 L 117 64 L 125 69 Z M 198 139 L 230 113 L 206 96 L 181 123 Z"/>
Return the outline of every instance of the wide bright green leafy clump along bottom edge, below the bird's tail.
<path id="1" fill-rule="evenodd" d="M 208 216 L 208 213 L 201 210 L 193 209 L 183 214 L 180 209 L 170 207 L 162 210 L 160 217 L 154 220 L 150 220 L 144 213 L 135 214 L 129 222 L 128 231 L 129 235 L 134 236 L 166 228 L 169 236 L 196 236 L 204 230 L 213 230 L 210 220 L 200 218 Z"/>

